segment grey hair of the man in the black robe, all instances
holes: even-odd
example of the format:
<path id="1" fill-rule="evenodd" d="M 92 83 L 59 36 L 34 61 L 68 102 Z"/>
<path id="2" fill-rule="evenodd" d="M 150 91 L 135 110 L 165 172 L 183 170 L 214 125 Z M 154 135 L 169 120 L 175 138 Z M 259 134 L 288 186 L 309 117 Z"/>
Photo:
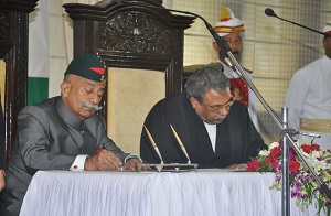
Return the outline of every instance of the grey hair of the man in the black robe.
<path id="1" fill-rule="evenodd" d="M 188 79 L 186 93 L 189 96 L 203 102 L 205 94 L 213 89 L 215 91 L 229 89 L 229 80 L 222 68 L 205 66 L 194 72 Z"/>

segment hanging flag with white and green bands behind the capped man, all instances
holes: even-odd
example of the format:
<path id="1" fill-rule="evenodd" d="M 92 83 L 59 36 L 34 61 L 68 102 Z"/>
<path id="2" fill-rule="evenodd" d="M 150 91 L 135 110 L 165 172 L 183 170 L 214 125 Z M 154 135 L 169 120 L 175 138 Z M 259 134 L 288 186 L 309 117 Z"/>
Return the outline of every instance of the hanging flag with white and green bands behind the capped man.
<path id="1" fill-rule="evenodd" d="M 49 98 L 50 6 L 38 1 L 29 14 L 28 105 Z"/>

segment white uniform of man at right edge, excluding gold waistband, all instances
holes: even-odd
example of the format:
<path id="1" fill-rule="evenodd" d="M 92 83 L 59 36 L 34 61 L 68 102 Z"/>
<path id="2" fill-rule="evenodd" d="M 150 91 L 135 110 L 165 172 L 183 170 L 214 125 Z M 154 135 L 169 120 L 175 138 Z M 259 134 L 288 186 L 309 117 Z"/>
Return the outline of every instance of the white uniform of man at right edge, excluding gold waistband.
<path id="1" fill-rule="evenodd" d="M 290 80 L 285 106 L 288 125 L 300 130 L 300 119 L 331 120 L 331 60 L 323 56 L 295 73 Z M 311 131 L 307 131 L 311 132 Z M 314 139 L 322 150 L 331 149 L 331 133 L 320 133 Z M 309 137 L 298 137 L 310 142 Z"/>

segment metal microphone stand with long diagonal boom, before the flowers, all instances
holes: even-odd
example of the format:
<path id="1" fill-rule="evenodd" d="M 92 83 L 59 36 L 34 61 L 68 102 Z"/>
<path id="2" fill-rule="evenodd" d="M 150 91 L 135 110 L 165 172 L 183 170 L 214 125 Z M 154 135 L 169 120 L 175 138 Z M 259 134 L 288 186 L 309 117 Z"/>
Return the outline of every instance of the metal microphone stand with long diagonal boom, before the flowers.
<path id="1" fill-rule="evenodd" d="M 269 114 L 269 116 L 273 118 L 275 123 L 281 129 L 281 133 L 282 133 L 282 151 L 281 151 L 282 152 L 281 153 L 281 174 L 282 174 L 281 199 L 282 199 L 282 203 L 281 203 L 281 212 L 282 212 L 282 215 L 289 215 L 289 212 L 290 212 L 289 210 L 290 209 L 290 205 L 289 205 L 289 198 L 290 198 L 290 196 L 289 196 L 289 193 L 290 193 L 290 190 L 289 190 L 289 161 L 288 161 L 289 147 L 287 145 L 287 142 L 289 142 L 290 145 L 295 149 L 295 151 L 300 156 L 300 159 L 303 161 L 303 163 L 307 165 L 307 168 L 309 169 L 309 171 L 311 172 L 313 177 L 320 184 L 324 194 L 328 196 L 329 199 L 331 199 L 331 192 L 328 188 L 327 184 L 318 176 L 318 174 L 316 173 L 313 168 L 305 159 L 302 152 L 296 145 L 296 143 L 293 142 L 293 140 L 291 138 L 292 136 L 299 134 L 301 132 L 287 128 L 287 107 L 282 107 L 282 119 L 281 119 L 279 117 L 279 115 L 266 102 L 264 97 L 259 94 L 259 91 L 257 90 L 257 88 L 255 87 L 253 82 L 250 80 L 249 76 L 247 75 L 247 72 L 245 72 L 243 69 L 243 67 L 239 65 L 239 63 L 233 56 L 232 50 L 228 46 L 228 44 L 226 43 L 226 41 L 215 32 L 214 28 L 204 18 L 202 18 L 201 15 L 199 15 L 196 13 L 192 13 L 192 12 L 188 12 L 188 11 L 180 11 L 180 10 L 172 10 L 172 9 L 167 9 L 167 8 L 162 8 L 162 7 L 148 6 L 145 3 L 141 3 L 141 4 L 147 6 L 148 8 L 158 8 L 158 9 L 162 9 L 166 11 L 179 12 L 179 13 L 190 14 L 195 18 L 200 18 L 204 22 L 206 29 L 210 31 L 210 33 L 212 34 L 212 36 L 214 37 L 214 40 L 216 41 L 218 46 L 221 47 L 220 53 L 221 53 L 222 57 L 226 61 L 226 63 L 229 65 L 229 67 L 235 73 L 237 73 L 242 77 L 242 79 L 247 84 L 247 86 L 254 91 L 254 94 L 256 95 L 258 100 L 261 102 L 261 105 L 264 106 L 266 111 Z M 311 134 L 311 136 L 314 137 L 314 134 Z"/>

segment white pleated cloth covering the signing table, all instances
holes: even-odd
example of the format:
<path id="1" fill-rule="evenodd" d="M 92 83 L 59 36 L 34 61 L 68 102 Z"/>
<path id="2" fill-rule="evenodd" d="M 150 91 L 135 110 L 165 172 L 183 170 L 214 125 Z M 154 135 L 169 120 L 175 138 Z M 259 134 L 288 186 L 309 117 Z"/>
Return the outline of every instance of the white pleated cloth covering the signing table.
<path id="1" fill-rule="evenodd" d="M 21 216 L 280 216 L 274 173 L 39 171 Z M 301 212 L 291 201 L 291 216 Z M 323 215 L 323 214 L 322 214 Z"/>

